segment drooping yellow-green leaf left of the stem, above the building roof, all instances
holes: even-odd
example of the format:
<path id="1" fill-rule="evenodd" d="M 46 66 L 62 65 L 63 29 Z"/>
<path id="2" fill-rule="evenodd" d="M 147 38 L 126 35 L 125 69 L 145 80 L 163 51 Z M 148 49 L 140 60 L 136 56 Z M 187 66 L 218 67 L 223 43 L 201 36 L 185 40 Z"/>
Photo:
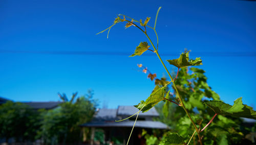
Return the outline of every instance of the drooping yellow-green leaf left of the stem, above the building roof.
<path id="1" fill-rule="evenodd" d="M 156 87 L 159 87 L 159 86 L 156 86 Z M 139 110 L 143 107 L 143 109 L 141 110 L 143 113 L 150 110 L 157 103 L 164 100 L 165 90 L 166 90 L 166 87 L 161 87 L 157 89 L 146 99 L 146 101 L 141 101 L 138 105 L 135 105 L 134 107 L 138 108 Z"/>

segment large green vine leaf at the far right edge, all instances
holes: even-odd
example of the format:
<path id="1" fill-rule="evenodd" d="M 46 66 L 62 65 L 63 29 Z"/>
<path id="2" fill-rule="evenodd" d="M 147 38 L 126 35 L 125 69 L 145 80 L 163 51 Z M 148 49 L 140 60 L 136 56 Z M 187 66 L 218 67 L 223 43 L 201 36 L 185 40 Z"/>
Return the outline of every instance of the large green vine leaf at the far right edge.
<path id="1" fill-rule="evenodd" d="M 222 101 L 209 101 L 204 104 L 217 114 L 256 119 L 256 111 L 252 110 L 252 107 L 244 105 L 242 97 L 234 101 L 233 106 Z"/>

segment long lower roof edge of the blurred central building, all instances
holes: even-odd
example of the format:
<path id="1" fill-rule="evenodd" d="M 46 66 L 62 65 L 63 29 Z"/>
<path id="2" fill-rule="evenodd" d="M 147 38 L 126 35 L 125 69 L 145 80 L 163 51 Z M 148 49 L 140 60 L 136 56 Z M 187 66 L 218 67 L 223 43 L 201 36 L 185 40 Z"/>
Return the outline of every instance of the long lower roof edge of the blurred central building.
<path id="1" fill-rule="evenodd" d="M 82 124 L 83 127 L 133 127 L 134 121 L 128 120 L 123 122 L 91 122 Z M 135 128 L 155 128 L 155 129 L 167 129 L 168 127 L 161 123 L 151 120 L 137 120 Z"/>

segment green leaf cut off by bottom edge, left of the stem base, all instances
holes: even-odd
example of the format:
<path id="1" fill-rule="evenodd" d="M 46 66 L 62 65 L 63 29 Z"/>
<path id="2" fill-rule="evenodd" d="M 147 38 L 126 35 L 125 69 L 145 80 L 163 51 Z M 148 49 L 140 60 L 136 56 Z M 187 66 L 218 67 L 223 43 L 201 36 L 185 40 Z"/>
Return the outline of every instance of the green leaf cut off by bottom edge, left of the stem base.
<path id="1" fill-rule="evenodd" d="M 163 138 L 160 144 L 161 145 L 184 145 L 184 138 L 181 137 L 178 133 L 170 133 Z"/>

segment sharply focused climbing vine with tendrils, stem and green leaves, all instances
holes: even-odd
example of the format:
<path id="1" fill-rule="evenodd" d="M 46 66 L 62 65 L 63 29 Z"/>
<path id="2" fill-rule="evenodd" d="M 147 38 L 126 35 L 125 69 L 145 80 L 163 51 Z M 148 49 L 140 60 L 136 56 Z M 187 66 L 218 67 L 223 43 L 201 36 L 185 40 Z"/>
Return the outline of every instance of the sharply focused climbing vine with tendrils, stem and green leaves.
<path id="1" fill-rule="evenodd" d="M 126 22 L 125 29 L 129 28 L 129 27 L 138 28 L 148 38 L 148 41 L 150 41 L 150 44 L 153 46 L 153 50 L 150 49 L 150 45 L 148 45 L 147 42 L 140 42 L 140 44 L 136 47 L 135 52 L 130 57 L 140 56 L 145 51 L 151 51 L 151 52 L 155 53 L 157 55 L 157 57 L 159 58 L 162 66 L 166 70 L 166 72 L 167 72 L 167 74 L 168 74 L 168 76 L 171 80 L 171 81 L 168 82 L 166 80 L 156 79 L 155 82 L 158 81 L 158 82 L 164 82 L 164 83 L 162 83 L 162 85 L 157 85 L 155 87 L 155 89 L 153 90 L 152 94 L 146 99 L 146 101 L 141 101 L 138 105 L 135 105 L 135 107 L 138 108 L 139 111 L 137 113 L 135 113 L 134 115 L 137 114 L 137 117 L 138 117 L 140 111 L 146 112 L 146 111 L 150 110 L 152 107 L 154 107 L 156 104 L 158 104 L 159 102 L 164 101 L 164 100 L 172 102 L 172 103 L 174 103 L 174 104 L 183 108 L 186 115 L 190 119 L 190 122 L 193 124 L 193 126 L 195 128 L 195 131 L 191 135 L 190 139 L 187 139 L 189 141 L 187 143 L 185 143 L 184 138 L 181 137 L 178 133 L 169 133 L 164 139 L 162 139 L 160 144 L 189 144 L 189 142 L 193 138 L 194 134 L 197 133 L 198 142 L 202 145 L 203 144 L 203 142 L 202 142 L 203 137 L 201 136 L 201 133 L 213 122 L 214 118 L 217 115 L 230 115 L 230 116 L 234 116 L 234 117 L 245 117 L 245 118 L 256 119 L 256 111 L 254 111 L 252 109 L 252 107 L 244 105 L 242 103 L 242 98 L 239 98 L 236 101 L 234 101 L 233 106 L 218 100 L 218 98 L 213 98 L 214 100 L 205 102 L 204 105 L 206 105 L 210 109 L 212 109 L 215 112 L 215 115 L 212 116 L 212 118 L 209 120 L 209 123 L 205 127 L 203 127 L 202 129 L 201 129 L 201 126 L 200 126 L 201 123 L 202 123 L 202 119 L 200 119 L 199 121 L 197 120 L 197 124 L 200 127 L 198 127 L 196 125 L 195 120 L 193 120 L 193 117 L 190 116 L 186 106 L 183 103 L 184 98 L 182 98 L 182 95 L 180 94 L 180 90 L 177 88 L 177 85 L 175 84 L 175 81 L 178 77 L 178 73 L 179 73 L 179 70 L 181 68 L 187 67 L 187 66 L 202 65 L 202 60 L 201 60 L 201 58 L 196 58 L 195 60 L 189 59 L 189 52 L 184 52 L 180 55 L 180 57 L 178 59 L 167 60 L 167 62 L 170 65 L 174 65 L 178 68 L 177 75 L 176 75 L 175 78 L 173 78 L 172 75 L 170 75 L 169 70 L 166 68 L 164 62 L 162 61 L 162 59 L 161 59 L 161 57 L 158 53 L 158 35 L 157 35 L 157 32 L 156 32 L 156 23 L 157 23 L 157 17 L 158 17 L 158 13 L 159 13 L 160 9 L 161 9 L 161 7 L 159 7 L 159 9 L 157 11 L 154 27 L 151 27 L 151 26 L 147 25 L 147 23 L 148 23 L 148 21 L 150 21 L 151 17 L 146 17 L 145 21 L 142 22 L 141 19 L 140 19 L 140 21 L 138 21 L 138 20 L 135 20 L 134 18 L 131 18 L 129 16 L 119 14 L 115 18 L 114 23 L 113 23 L 112 26 L 110 26 L 109 28 L 107 28 L 107 29 L 98 33 L 98 34 L 100 34 L 104 31 L 108 30 L 108 35 L 107 35 L 107 38 L 108 38 L 110 29 L 119 22 Z M 150 29 L 154 30 L 154 32 L 156 34 L 156 38 L 157 38 L 156 45 L 151 40 L 150 36 L 148 36 L 147 28 L 150 28 Z M 144 67 L 141 64 L 139 64 L 138 66 L 139 67 Z M 144 67 L 143 72 L 146 72 L 146 71 L 147 71 L 147 68 Z M 156 78 L 156 74 L 151 74 L 151 72 L 150 72 L 150 74 L 148 75 L 148 78 L 153 80 L 153 79 Z M 173 83 L 173 88 L 174 88 L 176 96 L 177 96 L 177 99 L 174 100 L 174 101 L 169 99 L 169 91 L 166 93 L 166 90 L 168 90 L 167 87 L 170 83 Z M 134 115 L 132 115 L 132 116 L 134 116 Z M 130 117 L 132 117 L 132 116 L 130 116 Z M 128 118 L 130 118 L 130 117 L 128 117 Z M 136 120 L 137 120 L 137 117 L 136 117 Z M 127 119 L 127 118 L 125 118 L 125 119 Z M 125 120 L 125 119 L 122 119 L 122 120 Z M 122 121 L 122 120 L 118 120 L 117 122 Z M 136 123 L 136 121 L 135 121 L 135 123 Z M 134 126 L 135 126 L 135 123 L 134 123 Z M 134 126 L 133 126 L 133 129 L 134 129 Z M 133 132 L 133 129 L 131 131 L 131 134 Z M 131 134 L 129 136 L 127 144 L 129 143 Z"/>

